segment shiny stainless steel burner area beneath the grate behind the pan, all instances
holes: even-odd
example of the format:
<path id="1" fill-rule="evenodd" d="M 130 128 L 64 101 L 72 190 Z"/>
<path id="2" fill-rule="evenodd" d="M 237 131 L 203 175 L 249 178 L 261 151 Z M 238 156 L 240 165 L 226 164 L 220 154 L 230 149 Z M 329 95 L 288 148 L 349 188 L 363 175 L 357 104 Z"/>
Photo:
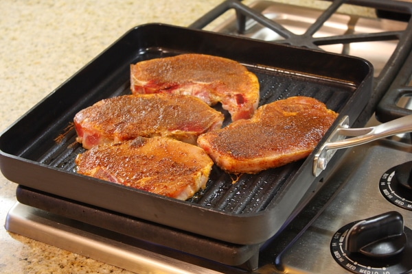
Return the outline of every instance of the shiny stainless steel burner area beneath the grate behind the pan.
<path id="1" fill-rule="evenodd" d="M 340 12 L 333 13 L 323 24 L 314 27 L 323 10 L 282 3 L 273 4 L 272 1 L 256 1 L 251 7 L 264 15 L 264 18 L 275 22 L 272 27 L 277 31 L 281 29 L 284 32 L 283 36 L 249 17 L 244 18 L 244 27 L 239 29 L 238 23 L 235 23 L 236 16 L 218 25 L 214 31 L 365 58 L 373 64 L 376 77 L 380 75 L 396 49 L 396 34 L 407 27 L 407 23 L 403 21 L 385 18 L 376 20 Z M 367 39 L 367 34 L 380 35 L 380 38 Z M 388 39 L 389 35 L 393 38 Z M 358 38 L 356 43 L 341 43 L 352 42 L 355 36 Z"/>

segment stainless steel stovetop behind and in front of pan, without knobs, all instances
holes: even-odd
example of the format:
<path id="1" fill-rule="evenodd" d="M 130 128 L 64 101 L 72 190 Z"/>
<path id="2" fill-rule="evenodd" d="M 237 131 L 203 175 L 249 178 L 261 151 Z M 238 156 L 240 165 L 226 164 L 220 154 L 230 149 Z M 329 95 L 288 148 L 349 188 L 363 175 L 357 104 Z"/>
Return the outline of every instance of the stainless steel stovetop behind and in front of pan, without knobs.
<path id="1" fill-rule="evenodd" d="M 371 1 L 353 2 L 368 4 Z M 247 24 L 242 34 L 239 34 L 233 26 L 233 24 L 236 25 L 233 23 L 236 19 L 220 25 L 216 31 L 248 38 L 287 42 L 290 37 L 293 37 L 289 32 L 304 34 L 305 31 L 302 29 L 308 28 L 308 25 L 316 21 L 314 18 L 319 16 L 317 10 L 283 4 L 279 4 L 274 12 L 271 5 L 268 7 L 268 3 L 268 1 L 260 1 L 257 2 L 256 7 L 260 10 L 259 12 L 266 14 L 269 21 L 279 19 L 282 24 L 286 24 L 284 31 L 286 38 L 262 28 L 262 25 L 271 25 L 265 18 L 259 19 L 260 24 L 247 21 L 246 18 L 241 19 L 240 21 Z M 376 3 L 381 5 L 383 2 L 376 1 Z M 196 22 L 192 27 L 202 24 L 201 21 Z M 396 58 L 406 60 L 410 51 L 410 45 L 407 49 L 405 49 L 406 46 L 402 47 L 404 51 L 396 53 L 393 57 L 398 38 L 403 39 L 400 29 L 406 27 L 407 24 L 403 22 L 395 23 L 395 21 L 371 20 L 361 17 L 354 19 L 353 16 L 336 14 L 332 20 L 328 21 L 328 24 L 321 27 L 313 38 L 310 38 L 314 43 L 304 46 L 319 47 L 344 54 L 351 53 L 371 61 L 376 67 L 377 81 L 374 89 L 378 94 L 371 98 L 371 101 L 376 105 L 389 88 L 396 89 L 402 86 L 403 90 L 411 90 L 409 76 L 409 79 L 402 77 L 401 83 L 397 83 L 398 86 L 391 86 L 393 75 L 400 71 L 402 65 L 393 64 L 393 60 Z M 375 37 L 380 36 L 380 39 L 382 35 L 379 33 L 384 33 L 384 41 L 376 42 L 372 44 L 373 46 L 369 42 L 340 46 L 326 45 L 334 39 L 327 38 L 330 34 L 338 36 L 349 34 L 354 42 L 356 39 L 363 38 L 363 33 L 370 32 L 376 33 Z M 293 39 L 290 38 L 290 40 Z M 382 50 L 383 48 L 385 50 Z M 411 71 L 408 71 L 411 75 Z M 409 108 L 407 105 L 411 100 L 407 92 L 404 94 L 406 94 L 406 99 L 401 101 L 406 101 L 406 103 L 402 103 L 402 108 Z M 380 123 L 374 117 L 369 119 L 372 110 L 374 108 L 369 107 L 366 110 L 366 118 L 364 118 L 365 121 L 369 120 L 369 125 Z M 411 140 L 409 136 L 396 136 L 370 142 L 367 145 L 347 149 L 343 157 L 335 161 L 336 164 L 329 173 L 330 175 L 321 180 L 323 186 L 317 196 L 295 216 L 295 219 L 282 232 L 262 246 L 253 247 L 256 251 L 255 255 L 240 266 L 229 266 L 199 258 L 187 252 L 190 248 L 176 251 L 170 247 L 152 245 L 144 240 L 67 219 L 22 203 L 16 203 L 10 210 L 5 226 L 10 232 L 22 234 L 136 273 L 150 272 L 154 269 L 165 273 L 349 273 L 335 262 L 336 258 L 330 250 L 332 238 L 336 236 L 336 232 L 341 227 L 347 223 L 395 210 L 404 217 L 404 225 L 412 228 L 412 210 L 393 205 L 385 199 L 380 190 L 382 175 L 386 171 L 398 164 L 412 161 Z M 194 240 L 194 245 L 196 245 L 196 240 Z M 218 242 L 216 245 L 227 247 L 225 242 Z M 242 247 L 229 245 L 229 250 L 238 251 L 239 249 Z M 352 262 L 350 265 L 356 264 L 357 262 L 355 264 Z M 376 272 L 370 273 L 384 273 L 379 272 L 384 270 L 375 269 L 374 271 Z"/>

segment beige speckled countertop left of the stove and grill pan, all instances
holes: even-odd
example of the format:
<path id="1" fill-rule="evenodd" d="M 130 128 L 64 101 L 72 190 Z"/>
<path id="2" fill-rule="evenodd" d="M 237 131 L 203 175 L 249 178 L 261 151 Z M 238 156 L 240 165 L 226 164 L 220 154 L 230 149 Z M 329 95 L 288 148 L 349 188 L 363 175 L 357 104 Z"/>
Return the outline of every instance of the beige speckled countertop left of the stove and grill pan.
<path id="1" fill-rule="evenodd" d="M 187 26 L 221 2 L 0 1 L 0 131 L 128 29 L 144 23 Z M 16 201 L 15 190 L 16 184 L 0 175 L 0 273 L 129 273 L 6 232 L 3 224 Z"/>

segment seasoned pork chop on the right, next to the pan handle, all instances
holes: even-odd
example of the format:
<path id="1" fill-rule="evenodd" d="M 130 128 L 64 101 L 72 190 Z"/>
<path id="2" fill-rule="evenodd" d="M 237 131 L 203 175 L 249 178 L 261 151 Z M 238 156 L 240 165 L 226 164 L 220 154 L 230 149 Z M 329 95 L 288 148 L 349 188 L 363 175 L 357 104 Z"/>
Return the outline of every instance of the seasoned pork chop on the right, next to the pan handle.
<path id="1" fill-rule="evenodd" d="M 258 173 L 306 158 L 338 114 L 310 97 L 290 97 L 258 108 L 240 120 L 198 137 L 220 168 Z"/>

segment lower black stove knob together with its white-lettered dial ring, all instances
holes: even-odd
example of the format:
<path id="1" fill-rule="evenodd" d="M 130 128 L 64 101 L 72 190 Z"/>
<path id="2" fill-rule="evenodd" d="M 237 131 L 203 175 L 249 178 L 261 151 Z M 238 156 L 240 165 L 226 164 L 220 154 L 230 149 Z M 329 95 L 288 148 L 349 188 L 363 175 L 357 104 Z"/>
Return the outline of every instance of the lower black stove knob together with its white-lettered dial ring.
<path id="1" fill-rule="evenodd" d="M 412 230 L 399 212 L 387 212 L 341 227 L 330 251 L 352 273 L 411 273 Z"/>

